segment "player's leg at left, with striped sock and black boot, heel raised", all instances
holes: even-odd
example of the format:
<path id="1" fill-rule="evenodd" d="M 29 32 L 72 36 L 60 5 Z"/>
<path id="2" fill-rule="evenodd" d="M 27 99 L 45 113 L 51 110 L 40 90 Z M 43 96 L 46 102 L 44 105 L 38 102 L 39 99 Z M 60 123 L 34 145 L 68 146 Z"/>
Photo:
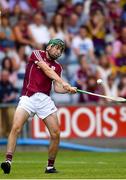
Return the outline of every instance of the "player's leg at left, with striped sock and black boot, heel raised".
<path id="1" fill-rule="evenodd" d="M 8 138 L 6 161 L 1 164 L 1 168 L 3 169 L 5 174 L 10 173 L 11 161 L 16 147 L 17 136 L 22 130 L 22 127 L 25 121 L 28 119 L 28 117 L 29 117 L 29 113 L 27 111 L 25 111 L 21 107 L 17 107 L 14 114 L 11 132 Z"/>

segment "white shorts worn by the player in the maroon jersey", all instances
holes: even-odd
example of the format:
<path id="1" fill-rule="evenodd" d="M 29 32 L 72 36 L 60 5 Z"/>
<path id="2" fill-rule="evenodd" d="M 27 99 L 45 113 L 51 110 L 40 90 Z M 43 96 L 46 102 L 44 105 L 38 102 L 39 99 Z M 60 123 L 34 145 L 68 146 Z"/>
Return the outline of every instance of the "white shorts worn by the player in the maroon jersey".
<path id="1" fill-rule="evenodd" d="M 35 93 L 30 97 L 21 96 L 18 107 L 26 110 L 30 116 L 36 114 L 42 119 L 57 111 L 51 97 L 44 93 Z"/>

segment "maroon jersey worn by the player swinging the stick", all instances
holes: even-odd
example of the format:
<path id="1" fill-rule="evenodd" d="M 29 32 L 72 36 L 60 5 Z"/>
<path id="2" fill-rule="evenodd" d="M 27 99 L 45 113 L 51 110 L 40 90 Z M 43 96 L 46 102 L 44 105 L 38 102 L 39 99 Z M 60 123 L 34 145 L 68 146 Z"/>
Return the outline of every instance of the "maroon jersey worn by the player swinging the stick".
<path id="1" fill-rule="evenodd" d="M 22 95 L 31 96 L 37 92 L 50 94 L 53 80 L 35 64 L 36 60 L 46 62 L 59 76 L 61 75 L 62 68 L 60 64 L 48 59 L 45 51 L 34 50 L 26 67 Z"/>

